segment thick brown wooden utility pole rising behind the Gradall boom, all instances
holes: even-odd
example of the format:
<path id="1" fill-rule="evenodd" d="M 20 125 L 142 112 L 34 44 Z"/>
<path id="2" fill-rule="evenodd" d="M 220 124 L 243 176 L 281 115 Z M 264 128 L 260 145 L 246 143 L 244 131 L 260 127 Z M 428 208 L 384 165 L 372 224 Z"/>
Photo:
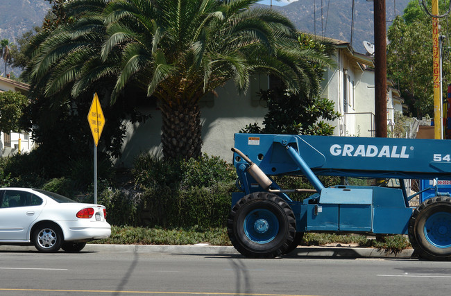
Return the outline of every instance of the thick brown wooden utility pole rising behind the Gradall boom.
<path id="1" fill-rule="evenodd" d="M 385 0 L 374 0 L 375 129 L 386 138 L 386 24 Z"/>

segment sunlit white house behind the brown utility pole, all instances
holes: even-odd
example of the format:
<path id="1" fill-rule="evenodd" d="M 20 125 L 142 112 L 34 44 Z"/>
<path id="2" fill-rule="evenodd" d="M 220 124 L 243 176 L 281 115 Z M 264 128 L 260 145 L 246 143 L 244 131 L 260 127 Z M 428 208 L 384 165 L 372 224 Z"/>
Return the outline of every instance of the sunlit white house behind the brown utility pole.
<path id="1" fill-rule="evenodd" d="M 375 136 L 375 73 L 373 56 L 356 53 L 349 42 L 332 40 L 337 45 L 334 60 L 337 68 L 325 75 L 321 96 L 334 101 L 341 114 L 332 125 L 334 135 L 350 137 Z M 387 125 L 394 125 L 395 111 L 405 109 L 404 100 L 393 81 L 387 80 Z"/>

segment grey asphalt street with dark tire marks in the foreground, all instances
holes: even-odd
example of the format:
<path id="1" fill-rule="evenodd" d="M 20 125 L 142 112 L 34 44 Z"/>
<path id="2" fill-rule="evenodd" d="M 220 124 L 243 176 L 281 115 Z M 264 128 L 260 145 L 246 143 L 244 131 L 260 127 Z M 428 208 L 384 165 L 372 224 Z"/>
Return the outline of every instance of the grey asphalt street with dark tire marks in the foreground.
<path id="1" fill-rule="evenodd" d="M 451 263 L 403 258 L 0 249 L 0 295 L 450 295 Z"/>

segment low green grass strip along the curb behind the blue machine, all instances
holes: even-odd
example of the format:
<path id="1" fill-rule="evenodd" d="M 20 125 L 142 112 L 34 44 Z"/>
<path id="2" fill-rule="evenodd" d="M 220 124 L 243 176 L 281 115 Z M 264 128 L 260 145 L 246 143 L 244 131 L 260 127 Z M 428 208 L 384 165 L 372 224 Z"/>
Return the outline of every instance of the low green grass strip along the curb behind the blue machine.
<path id="1" fill-rule="evenodd" d="M 200 229 L 199 227 L 164 229 L 161 227 L 118 227 L 112 226 L 110 238 L 92 243 L 118 245 L 231 245 L 226 228 Z M 398 252 L 410 246 L 406 236 L 384 236 L 381 239 L 368 238 L 358 234 L 317 234 L 307 233 L 301 245 L 354 245 L 376 247 Z"/>

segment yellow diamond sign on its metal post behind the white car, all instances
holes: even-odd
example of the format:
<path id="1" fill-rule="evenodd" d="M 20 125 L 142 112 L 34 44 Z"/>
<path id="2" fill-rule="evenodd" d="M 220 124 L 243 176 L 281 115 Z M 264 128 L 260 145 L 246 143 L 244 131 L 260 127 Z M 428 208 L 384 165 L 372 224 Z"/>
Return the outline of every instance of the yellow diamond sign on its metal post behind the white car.
<path id="1" fill-rule="evenodd" d="M 92 137 L 94 138 L 94 204 L 97 203 L 97 144 L 99 144 L 100 135 L 105 125 L 102 107 L 100 105 L 97 93 L 92 98 L 90 112 L 87 114 L 87 122 L 90 123 Z"/>

